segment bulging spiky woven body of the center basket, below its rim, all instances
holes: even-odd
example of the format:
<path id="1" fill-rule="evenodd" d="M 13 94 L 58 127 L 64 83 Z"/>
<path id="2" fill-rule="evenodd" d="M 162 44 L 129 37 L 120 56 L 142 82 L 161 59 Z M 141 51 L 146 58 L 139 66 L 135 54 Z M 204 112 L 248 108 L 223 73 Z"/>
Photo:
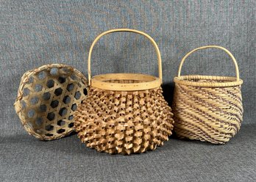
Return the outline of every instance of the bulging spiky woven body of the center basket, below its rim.
<path id="1" fill-rule="evenodd" d="M 174 120 L 161 87 L 118 92 L 90 88 L 74 114 L 78 136 L 107 153 L 143 153 L 168 140 Z"/>

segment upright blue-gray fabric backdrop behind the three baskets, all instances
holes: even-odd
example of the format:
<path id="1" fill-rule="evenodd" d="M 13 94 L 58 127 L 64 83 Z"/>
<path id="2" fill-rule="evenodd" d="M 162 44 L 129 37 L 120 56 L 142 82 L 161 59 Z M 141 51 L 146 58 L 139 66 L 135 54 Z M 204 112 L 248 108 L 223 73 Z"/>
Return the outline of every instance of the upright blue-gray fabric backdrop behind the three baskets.
<path id="1" fill-rule="evenodd" d="M 7 139 L 15 143 L 18 138 L 32 139 L 29 138 L 32 136 L 26 136 L 13 108 L 21 76 L 26 70 L 48 63 L 65 63 L 86 74 L 88 50 L 93 39 L 101 32 L 116 28 L 141 30 L 150 34 L 157 42 L 163 59 L 164 93 L 169 103 L 172 100 L 173 79 L 177 75 L 179 62 L 188 51 L 209 44 L 229 49 L 238 61 L 244 81 L 243 125 L 255 124 L 255 0 L 0 0 L 0 10 L 2 141 Z M 132 33 L 109 34 L 99 41 L 93 52 L 93 75 L 113 72 L 157 75 L 156 58 L 154 48 L 144 37 Z M 235 67 L 223 51 L 205 50 L 191 55 L 185 62 L 182 73 L 235 76 Z M 15 134 L 21 134 L 21 137 L 17 138 Z M 250 134 L 254 136 L 253 131 Z M 65 145 L 65 141 L 69 139 L 63 141 Z M 12 150 L 7 143 L 2 143 L 6 147 L 4 152 L 10 153 Z M 13 147 L 15 148 L 15 144 Z M 250 155 L 252 150 L 248 156 Z M 249 164 L 253 166 L 255 163 Z M 7 171 L 4 170 L 4 173 Z M 252 177 L 254 172 L 250 172 Z M 200 174 L 200 171 L 197 173 Z M 15 175 L 11 175 L 9 179 L 15 181 L 15 178 Z M 184 177 L 185 179 L 187 178 Z"/>

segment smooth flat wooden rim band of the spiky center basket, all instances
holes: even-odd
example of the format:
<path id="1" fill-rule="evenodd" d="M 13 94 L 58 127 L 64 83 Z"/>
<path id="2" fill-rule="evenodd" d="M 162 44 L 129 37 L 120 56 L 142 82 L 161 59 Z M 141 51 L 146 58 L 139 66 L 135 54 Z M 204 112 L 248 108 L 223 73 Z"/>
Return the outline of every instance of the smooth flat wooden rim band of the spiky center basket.
<path id="1" fill-rule="evenodd" d="M 112 83 L 106 80 L 138 80 L 140 83 Z M 160 78 L 142 73 L 107 73 L 93 76 L 91 79 L 91 87 L 102 90 L 115 91 L 136 91 L 149 90 L 161 86 Z"/>

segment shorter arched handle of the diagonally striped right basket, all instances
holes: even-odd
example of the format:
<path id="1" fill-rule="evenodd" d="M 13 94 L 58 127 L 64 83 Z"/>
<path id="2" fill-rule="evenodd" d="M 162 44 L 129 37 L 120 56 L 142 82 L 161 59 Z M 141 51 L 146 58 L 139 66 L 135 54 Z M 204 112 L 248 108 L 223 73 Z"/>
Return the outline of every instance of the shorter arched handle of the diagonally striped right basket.
<path id="1" fill-rule="evenodd" d="M 239 70 L 238 70 L 238 63 L 236 62 L 235 60 L 235 57 L 230 53 L 230 51 L 228 51 L 226 48 L 223 48 L 221 46 L 218 46 L 218 45 L 206 45 L 206 46 L 202 46 L 202 47 L 199 47 L 199 48 L 195 48 L 193 49 L 192 51 L 190 51 L 188 54 L 185 55 L 185 57 L 182 58 L 182 61 L 180 62 L 180 65 L 179 65 L 179 71 L 178 71 L 178 76 L 180 76 L 180 72 L 181 72 L 181 69 L 182 69 L 182 65 L 183 63 L 185 62 L 185 59 L 190 55 L 192 54 L 193 52 L 195 51 L 198 51 L 200 49 L 205 49 L 205 48 L 220 48 L 222 49 L 223 51 L 225 51 L 232 59 L 232 61 L 234 62 L 234 65 L 235 65 L 235 72 L 236 72 L 236 80 L 239 81 L 240 80 L 240 76 L 239 76 Z"/>

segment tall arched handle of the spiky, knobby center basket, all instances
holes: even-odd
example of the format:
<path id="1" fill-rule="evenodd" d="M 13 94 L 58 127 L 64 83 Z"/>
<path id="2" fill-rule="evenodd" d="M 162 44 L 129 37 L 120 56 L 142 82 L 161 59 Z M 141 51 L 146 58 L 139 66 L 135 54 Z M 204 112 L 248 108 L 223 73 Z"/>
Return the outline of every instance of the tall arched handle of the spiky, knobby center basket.
<path id="1" fill-rule="evenodd" d="M 137 33 L 137 34 L 142 34 L 143 36 L 147 37 L 150 40 L 150 42 L 154 45 L 155 51 L 157 52 L 158 74 L 159 74 L 158 76 L 159 76 L 160 81 L 162 83 L 162 59 L 161 59 L 161 54 L 160 54 L 159 48 L 157 46 L 157 43 L 154 42 L 153 38 L 150 37 L 149 34 L 146 34 L 144 32 L 141 32 L 141 31 L 138 31 L 138 30 L 135 30 L 135 29 L 111 29 L 111 30 L 108 30 L 106 32 L 103 32 L 102 34 L 99 34 L 98 37 L 96 37 L 96 39 L 93 40 L 92 45 L 90 45 L 90 51 L 89 51 L 89 55 L 88 55 L 88 85 L 90 86 L 90 82 L 91 82 L 91 78 L 90 78 L 90 76 L 91 76 L 90 57 L 91 57 L 91 54 L 92 54 L 92 51 L 93 51 L 93 47 L 102 36 L 104 36 L 105 34 L 113 33 L 113 32 L 134 32 L 134 33 Z"/>

